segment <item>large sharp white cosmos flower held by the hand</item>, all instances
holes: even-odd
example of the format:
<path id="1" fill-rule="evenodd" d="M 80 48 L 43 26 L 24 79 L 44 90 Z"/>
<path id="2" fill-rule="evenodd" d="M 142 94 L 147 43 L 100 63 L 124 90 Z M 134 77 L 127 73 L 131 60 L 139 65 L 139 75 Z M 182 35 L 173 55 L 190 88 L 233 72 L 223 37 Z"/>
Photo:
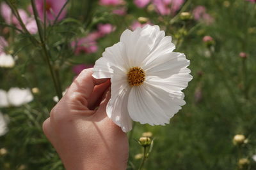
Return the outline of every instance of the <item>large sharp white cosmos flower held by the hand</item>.
<path id="1" fill-rule="evenodd" d="M 124 132 L 132 129 L 131 120 L 168 124 L 186 104 L 181 90 L 192 79 L 190 62 L 173 52 L 172 37 L 164 34 L 157 25 L 127 29 L 93 68 L 94 78 L 111 78 L 107 114 Z"/>

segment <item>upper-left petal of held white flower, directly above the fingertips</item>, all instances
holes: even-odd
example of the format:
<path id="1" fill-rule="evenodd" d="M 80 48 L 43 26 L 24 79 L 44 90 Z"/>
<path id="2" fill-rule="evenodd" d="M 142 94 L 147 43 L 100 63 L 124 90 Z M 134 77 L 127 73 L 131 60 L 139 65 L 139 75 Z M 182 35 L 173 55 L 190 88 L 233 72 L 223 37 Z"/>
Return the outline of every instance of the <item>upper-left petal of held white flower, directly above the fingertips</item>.
<path id="1" fill-rule="evenodd" d="M 102 57 L 96 61 L 93 67 L 93 77 L 110 78 L 113 74 L 113 68 L 111 68 L 111 66 L 116 66 L 126 72 L 126 59 L 125 46 L 123 43 L 116 43 L 106 48 L 105 52 L 102 53 Z"/>

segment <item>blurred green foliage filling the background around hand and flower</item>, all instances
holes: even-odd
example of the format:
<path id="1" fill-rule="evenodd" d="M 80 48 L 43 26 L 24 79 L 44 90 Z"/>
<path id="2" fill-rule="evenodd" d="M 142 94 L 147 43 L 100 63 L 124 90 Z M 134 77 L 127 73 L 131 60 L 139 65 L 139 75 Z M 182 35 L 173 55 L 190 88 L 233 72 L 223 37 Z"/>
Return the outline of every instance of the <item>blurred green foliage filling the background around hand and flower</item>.
<path id="1" fill-rule="evenodd" d="M 93 64 L 138 17 L 147 17 L 173 37 L 177 51 L 191 60 L 189 68 L 194 78 L 184 90 L 187 104 L 169 125 L 134 124 L 134 131 L 128 134 L 128 169 L 140 166 L 141 159 L 135 159 L 134 155 L 142 153 L 141 146 L 133 139 L 139 139 L 147 131 L 154 136 L 154 147 L 145 169 L 243 169 L 238 166 L 242 158 L 250 160 L 247 169 L 256 169 L 252 159 L 256 154 L 255 3 L 188 0 L 175 15 L 161 16 L 150 10 L 151 4 L 138 8 L 132 1 L 125 2 L 103 6 L 97 1 L 68 1 L 63 20 L 44 24 L 38 18 L 42 39 L 40 34 L 29 34 L 22 28 L 20 33 L 13 28 L 15 25 L 0 18 L 0 36 L 9 43 L 5 50 L 17 56 L 14 67 L 0 67 L 0 89 L 39 89 L 33 93 L 31 103 L 0 108 L 10 118 L 8 133 L 0 137 L 0 148 L 7 150 L 0 155 L 0 169 L 64 169 L 42 132 L 42 123 L 55 104 L 52 97 L 61 96 L 72 83 L 76 76 L 72 71 L 74 66 Z M 14 8 L 27 10 L 29 4 L 16 1 Z M 205 6 L 213 22 L 180 17 L 184 11 L 192 15 L 198 5 Z M 117 8 L 127 8 L 127 14 L 113 14 Z M 77 54 L 71 42 L 107 23 L 114 25 L 115 31 L 96 40 L 98 50 Z M 211 36 L 212 40 L 203 41 L 204 36 Z M 239 56 L 241 52 L 246 57 Z M 236 134 L 244 134 L 248 142 L 234 145 L 232 139 Z"/>

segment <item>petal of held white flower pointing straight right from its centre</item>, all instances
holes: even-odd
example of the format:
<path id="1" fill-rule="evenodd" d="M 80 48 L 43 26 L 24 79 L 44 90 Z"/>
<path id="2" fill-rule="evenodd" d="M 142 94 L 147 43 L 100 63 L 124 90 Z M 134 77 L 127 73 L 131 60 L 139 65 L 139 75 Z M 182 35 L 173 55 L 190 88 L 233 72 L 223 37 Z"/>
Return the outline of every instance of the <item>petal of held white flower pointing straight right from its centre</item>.
<path id="1" fill-rule="evenodd" d="M 168 92 L 179 93 L 179 91 L 188 87 L 188 82 L 192 80 L 193 76 L 190 74 L 190 69 L 182 68 L 179 73 L 172 74 L 172 76 L 168 78 L 159 78 L 157 76 L 147 76 L 147 83 L 150 85 L 154 85 L 155 87 L 164 89 Z M 168 74 L 168 71 L 166 71 Z"/>

